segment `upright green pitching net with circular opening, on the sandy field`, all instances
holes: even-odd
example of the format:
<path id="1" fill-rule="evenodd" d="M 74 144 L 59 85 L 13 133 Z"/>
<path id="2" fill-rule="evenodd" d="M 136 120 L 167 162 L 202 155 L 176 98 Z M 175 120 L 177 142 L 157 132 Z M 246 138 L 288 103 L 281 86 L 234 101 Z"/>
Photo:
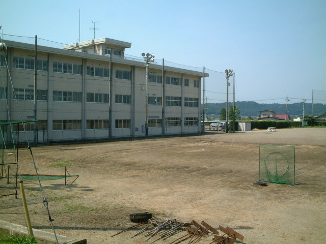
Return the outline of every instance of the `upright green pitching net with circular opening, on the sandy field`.
<path id="1" fill-rule="evenodd" d="M 260 144 L 259 180 L 295 185 L 295 147 Z"/>

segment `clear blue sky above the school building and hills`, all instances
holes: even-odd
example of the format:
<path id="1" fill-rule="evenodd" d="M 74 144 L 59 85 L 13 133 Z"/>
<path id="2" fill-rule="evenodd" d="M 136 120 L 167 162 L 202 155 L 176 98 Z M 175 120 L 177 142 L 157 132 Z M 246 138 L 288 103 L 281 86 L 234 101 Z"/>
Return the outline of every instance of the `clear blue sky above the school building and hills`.
<path id="1" fill-rule="evenodd" d="M 1 32 L 31 38 L 2 38 L 34 43 L 37 35 L 39 45 L 61 48 L 55 42 L 78 40 L 79 9 L 81 41 L 94 38 L 92 21 L 100 21 L 95 38 L 132 43 L 128 55 L 150 52 L 168 65 L 205 67 L 207 102 L 225 101 L 224 70 L 233 69 L 236 101 L 311 102 L 315 90 L 315 102 L 326 103 L 324 0 L 11 0 L 0 8 Z"/>

